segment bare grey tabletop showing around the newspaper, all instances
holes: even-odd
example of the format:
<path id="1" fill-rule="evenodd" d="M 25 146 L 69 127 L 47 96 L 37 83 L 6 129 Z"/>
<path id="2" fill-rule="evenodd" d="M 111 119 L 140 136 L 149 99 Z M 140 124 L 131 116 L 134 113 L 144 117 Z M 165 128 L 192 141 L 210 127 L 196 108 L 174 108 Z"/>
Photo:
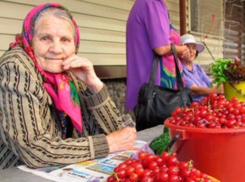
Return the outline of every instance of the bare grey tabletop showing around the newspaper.
<path id="1" fill-rule="evenodd" d="M 139 131 L 137 133 L 137 140 L 149 142 L 155 137 L 163 133 L 163 125 L 158 125 L 153 128 Z M 51 182 L 51 180 L 36 176 L 32 173 L 27 173 L 18 169 L 17 167 L 0 170 L 1 182 Z"/>

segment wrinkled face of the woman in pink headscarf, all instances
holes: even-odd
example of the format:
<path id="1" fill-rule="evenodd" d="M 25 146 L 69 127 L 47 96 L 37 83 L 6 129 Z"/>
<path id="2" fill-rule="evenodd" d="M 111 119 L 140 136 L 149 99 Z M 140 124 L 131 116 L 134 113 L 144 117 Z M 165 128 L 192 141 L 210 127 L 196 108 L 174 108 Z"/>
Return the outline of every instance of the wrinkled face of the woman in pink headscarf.
<path id="1" fill-rule="evenodd" d="M 63 72 L 62 62 L 75 54 L 71 25 L 64 19 L 47 15 L 41 17 L 35 26 L 32 46 L 38 64 L 44 71 Z"/>

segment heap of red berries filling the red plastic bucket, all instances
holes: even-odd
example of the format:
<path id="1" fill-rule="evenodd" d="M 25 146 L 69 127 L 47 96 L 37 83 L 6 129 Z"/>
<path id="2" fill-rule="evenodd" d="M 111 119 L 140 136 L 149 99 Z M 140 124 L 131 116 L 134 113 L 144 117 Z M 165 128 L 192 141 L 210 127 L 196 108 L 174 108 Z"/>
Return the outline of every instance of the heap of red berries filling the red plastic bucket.
<path id="1" fill-rule="evenodd" d="M 176 108 L 169 122 L 197 128 L 245 128 L 245 103 L 236 97 L 228 101 L 224 95 L 211 93 L 190 107 Z"/>

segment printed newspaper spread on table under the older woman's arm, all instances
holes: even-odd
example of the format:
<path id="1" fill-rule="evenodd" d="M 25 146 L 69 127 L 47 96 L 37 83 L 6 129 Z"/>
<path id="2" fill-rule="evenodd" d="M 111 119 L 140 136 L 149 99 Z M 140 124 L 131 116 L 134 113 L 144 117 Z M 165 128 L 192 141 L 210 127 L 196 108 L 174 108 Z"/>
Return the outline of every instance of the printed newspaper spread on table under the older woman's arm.
<path id="1" fill-rule="evenodd" d="M 105 158 L 80 162 L 65 167 L 45 167 L 30 169 L 25 165 L 18 166 L 19 169 L 31 172 L 43 178 L 59 182 L 104 182 L 112 174 L 113 169 L 131 158 L 146 144 L 144 141 L 136 140 L 134 148 L 127 151 L 109 154 Z"/>

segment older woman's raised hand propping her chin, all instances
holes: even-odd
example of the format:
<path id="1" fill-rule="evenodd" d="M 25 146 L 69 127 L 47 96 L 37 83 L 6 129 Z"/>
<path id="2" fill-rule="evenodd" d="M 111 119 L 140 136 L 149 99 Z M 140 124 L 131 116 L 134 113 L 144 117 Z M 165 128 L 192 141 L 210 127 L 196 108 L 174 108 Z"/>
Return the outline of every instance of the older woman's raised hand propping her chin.
<path id="1" fill-rule="evenodd" d="M 95 74 L 92 62 L 87 58 L 71 55 L 64 60 L 63 68 L 82 80 L 92 93 L 97 93 L 102 89 L 103 83 Z"/>

